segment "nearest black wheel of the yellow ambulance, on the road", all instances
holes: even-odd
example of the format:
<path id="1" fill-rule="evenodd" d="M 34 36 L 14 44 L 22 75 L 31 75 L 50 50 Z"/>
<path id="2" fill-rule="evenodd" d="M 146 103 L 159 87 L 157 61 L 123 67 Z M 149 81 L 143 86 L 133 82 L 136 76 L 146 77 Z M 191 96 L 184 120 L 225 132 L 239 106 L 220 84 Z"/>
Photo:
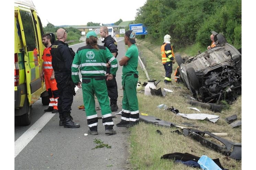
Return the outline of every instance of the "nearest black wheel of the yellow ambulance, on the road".
<path id="1" fill-rule="evenodd" d="M 19 126 L 27 126 L 31 123 L 31 117 L 30 117 L 30 104 L 28 99 L 25 99 L 24 107 L 26 107 L 26 113 L 22 114 L 21 116 L 15 116 L 14 118 L 14 124 Z"/>

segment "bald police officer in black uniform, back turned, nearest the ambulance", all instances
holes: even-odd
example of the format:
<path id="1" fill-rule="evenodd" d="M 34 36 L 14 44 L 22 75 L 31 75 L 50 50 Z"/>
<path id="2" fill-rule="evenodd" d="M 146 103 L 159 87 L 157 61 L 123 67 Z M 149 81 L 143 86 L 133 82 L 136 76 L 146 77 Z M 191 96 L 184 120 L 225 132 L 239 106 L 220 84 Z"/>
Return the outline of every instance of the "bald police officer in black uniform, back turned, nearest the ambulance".
<path id="1" fill-rule="evenodd" d="M 80 124 L 74 123 L 70 116 L 71 105 L 75 93 L 75 85 L 71 79 L 71 65 L 75 52 L 64 43 L 67 39 L 67 32 L 63 28 L 57 30 L 57 41 L 54 42 L 51 50 L 52 66 L 59 92 L 58 111 L 59 125 L 66 128 L 78 128 Z"/>

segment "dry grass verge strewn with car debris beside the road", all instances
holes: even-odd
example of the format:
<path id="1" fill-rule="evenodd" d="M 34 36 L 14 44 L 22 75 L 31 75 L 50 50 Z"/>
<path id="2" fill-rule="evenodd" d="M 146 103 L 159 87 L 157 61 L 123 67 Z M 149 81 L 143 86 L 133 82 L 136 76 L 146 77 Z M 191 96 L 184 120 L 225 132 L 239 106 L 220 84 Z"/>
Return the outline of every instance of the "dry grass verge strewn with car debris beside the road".
<path id="1" fill-rule="evenodd" d="M 190 91 L 185 86 L 173 82 L 173 85 L 181 87 L 179 89 L 164 84 L 163 80 L 165 76 L 165 71 L 161 63 L 161 45 L 152 45 L 144 40 L 136 40 L 136 42 L 137 47 L 141 52 L 140 56 L 146 58 L 147 70 L 149 72 L 151 80 L 162 80 L 157 85 L 157 88 L 164 87 L 174 91 L 173 93 L 168 93 L 166 97 L 144 96 L 143 93 L 137 93 L 140 113 L 147 113 L 149 116 L 155 116 L 161 120 L 169 121 L 177 125 L 182 125 L 181 123 L 185 122 L 192 123 L 199 126 L 197 129 L 201 131 L 210 131 L 212 133 L 227 133 L 228 135 L 224 137 L 227 140 L 236 143 L 242 142 L 242 128 L 238 127 L 232 129 L 230 125 L 225 122 L 225 118 L 233 114 L 237 114 L 238 120 L 242 120 L 242 96 L 238 97 L 233 105 L 230 105 L 229 109 L 223 110 L 220 113 L 214 113 L 210 110 L 197 107 L 201 111 L 201 113 L 219 115 L 220 119 L 216 123 L 212 123 L 206 120 L 188 120 L 186 118 L 182 118 L 181 116 L 177 116 L 170 111 L 158 109 L 158 105 L 166 104 L 168 107 L 173 106 L 174 108 L 177 108 L 181 113 L 199 113 L 188 109 L 188 107 L 194 106 L 186 103 L 186 96 L 190 95 Z M 182 49 L 182 51 L 192 51 L 193 48 L 196 49 L 196 47 L 191 46 L 191 49 Z M 179 52 L 182 53 L 182 51 Z M 182 53 L 182 56 L 187 55 L 189 54 L 186 54 L 185 52 Z M 174 64 L 173 70 L 176 68 L 177 63 Z M 138 66 L 138 71 L 138 81 L 141 81 L 142 83 L 147 82 L 147 78 L 140 66 Z M 212 159 L 220 158 L 222 166 L 226 169 L 240 170 L 242 168 L 242 161 L 235 161 L 234 159 L 226 157 L 223 154 L 206 148 L 191 137 L 185 137 L 183 135 L 171 133 L 171 131 L 176 130 L 176 128 L 157 127 L 151 124 L 145 124 L 143 122 L 140 122 L 139 125 L 132 127 L 130 130 L 131 155 L 129 159 L 132 164 L 131 167 L 133 167 L 133 169 L 194 169 L 174 163 L 171 160 L 160 159 L 160 157 L 164 154 L 175 152 L 187 152 L 198 157 L 201 157 L 202 155 L 207 155 Z M 156 133 L 156 130 L 160 130 L 163 135 L 159 135 L 158 133 Z M 181 131 L 181 129 L 178 130 Z"/>

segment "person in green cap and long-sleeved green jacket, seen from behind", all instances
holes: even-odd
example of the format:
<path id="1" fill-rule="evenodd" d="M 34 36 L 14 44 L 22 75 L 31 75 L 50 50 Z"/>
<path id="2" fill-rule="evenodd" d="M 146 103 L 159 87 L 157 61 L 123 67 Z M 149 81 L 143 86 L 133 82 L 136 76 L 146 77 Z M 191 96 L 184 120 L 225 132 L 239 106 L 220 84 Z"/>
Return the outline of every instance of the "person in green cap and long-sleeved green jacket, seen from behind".
<path id="1" fill-rule="evenodd" d="M 89 134 L 98 135 L 98 116 L 95 110 L 94 94 L 96 95 L 102 115 L 102 123 L 105 126 L 105 134 L 113 135 L 114 122 L 109 106 L 109 97 L 106 80 L 112 80 L 113 74 L 118 70 L 117 60 L 108 48 L 97 45 L 97 35 L 90 31 L 86 35 L 86 46 L 78 48 L 72 64 L 72 80 L 78 88 L 82 88 L 85 112 Z M 108 61 L 108 62 L 107 62 Z M 107 63 L 106 63 L 107 62 Z M 110 73 L 106 73 L 111 66 Z M 82 74 L 82 82 L 79 79 L 79 70 Z M 107 76 L 105 80 L 105 76 Z"/>

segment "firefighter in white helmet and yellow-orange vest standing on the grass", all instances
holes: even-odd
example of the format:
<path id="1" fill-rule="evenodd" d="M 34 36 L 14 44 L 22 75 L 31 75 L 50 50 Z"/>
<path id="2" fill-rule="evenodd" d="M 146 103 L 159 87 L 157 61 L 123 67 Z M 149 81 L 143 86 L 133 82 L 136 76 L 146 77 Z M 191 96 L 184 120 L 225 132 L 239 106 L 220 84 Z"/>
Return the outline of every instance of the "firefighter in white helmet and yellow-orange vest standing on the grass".
<path id="1" fill-rule="evenodd" d="M 166 34 L 161 47 L 162 63 L 165 68 L 165 84 L 171 83 L 172 64 L 175 63 L 174 52 L 170 42 L 171 36 Z"/>

